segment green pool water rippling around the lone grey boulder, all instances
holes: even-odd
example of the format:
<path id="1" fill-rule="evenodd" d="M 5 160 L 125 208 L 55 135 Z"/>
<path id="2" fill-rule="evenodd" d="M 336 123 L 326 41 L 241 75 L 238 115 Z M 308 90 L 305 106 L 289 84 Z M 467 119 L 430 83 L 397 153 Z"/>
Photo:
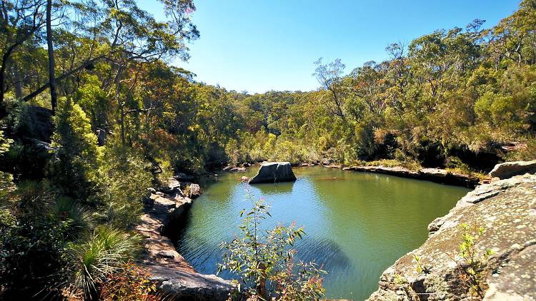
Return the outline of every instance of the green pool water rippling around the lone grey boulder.
<path id="1" fill-rule="evenodd" d="M 205 183 L 179 231 L 177 250 L 199 272 L 214 273 L 218 244 L 238 233 L 239 211 L 248 208 L 247 173 L 222 173 Z M 382 272 L 427 238 L 427 225 L 445 215 L 466 188 L 392 175 L 333 168 L 294 168 L 295 183 L 252 185 L 272 206 L 267 227 L 295 221 L 307 236 L 297 257 L 314 260 L 329 272 L 326 296 L 364 300 L 377 290 Z M 223 277 L 229 275 L 223 275 Z"/>

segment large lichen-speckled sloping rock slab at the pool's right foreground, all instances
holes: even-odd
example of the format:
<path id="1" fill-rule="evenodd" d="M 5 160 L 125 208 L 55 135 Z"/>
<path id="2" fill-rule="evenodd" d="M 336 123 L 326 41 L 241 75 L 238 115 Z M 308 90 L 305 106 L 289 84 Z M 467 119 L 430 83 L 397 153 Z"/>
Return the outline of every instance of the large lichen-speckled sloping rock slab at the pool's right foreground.
<path id="1" fill-rule="evenodd" d="M 384 271 L 369 300 L 472 300 L 460 275 L 462 228 L 484 228 L 477 243 L 483 300 L 536 299 L 536 175 L 480 185 L 430 223 L 430 237 Z M 415 257 L 427 272 L 417 272 Z M 456 258 L 455 262 L 452 258 Z M 402 292 L 402 293 L 399 293 Z M 425 299 L 422 299 L 425 297 Z M 476 297 L 476 300 L 482 300 Z"/>

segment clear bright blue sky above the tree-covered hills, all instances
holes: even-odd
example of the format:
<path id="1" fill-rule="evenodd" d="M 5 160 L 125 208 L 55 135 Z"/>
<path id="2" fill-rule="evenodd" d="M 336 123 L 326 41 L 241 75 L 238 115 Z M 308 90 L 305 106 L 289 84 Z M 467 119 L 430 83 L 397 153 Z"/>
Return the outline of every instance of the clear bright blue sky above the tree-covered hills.
<path id="1" fill-rule="evenodd" d="M 157 0 L 139 0 L 159 19 Z M 189 44 L 197 81 L 228 90 L 264 93 L 311 91 L 314 64 L 341 58 L 349 73 L 387 58 L 385 47 L 409 44 L 437 29 L 465 28 L 474 19 L 497 24 L 519 0 L 194 0 L 192 19 L 201 33 Z"/>

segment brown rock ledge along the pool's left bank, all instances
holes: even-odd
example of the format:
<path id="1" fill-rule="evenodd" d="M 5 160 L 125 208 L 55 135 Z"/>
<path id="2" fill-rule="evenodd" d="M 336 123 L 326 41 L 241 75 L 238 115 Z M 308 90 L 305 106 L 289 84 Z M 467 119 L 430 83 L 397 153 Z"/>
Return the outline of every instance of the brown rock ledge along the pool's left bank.
<path id="1" fill-rule="evenodd" d="M 135 228 L 144 238 L 145 247 L 139 265 L 169 300 L 227 300 L 230 282 L 194 270 L 175 250 L 172 240 L 162 235 L 175 229 L 172 224 L 182 218 L 191 203 L 189 198 L 164 193 L 153 193 L 145 200 L 142 222 Z"/>

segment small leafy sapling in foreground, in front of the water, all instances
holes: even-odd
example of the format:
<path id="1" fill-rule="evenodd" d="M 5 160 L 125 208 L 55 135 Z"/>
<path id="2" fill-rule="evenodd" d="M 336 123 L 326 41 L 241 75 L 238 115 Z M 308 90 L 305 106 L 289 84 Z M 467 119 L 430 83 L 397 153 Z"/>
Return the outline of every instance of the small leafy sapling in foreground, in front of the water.
<path id="1" fill-rule="evenodd" d="M 322 275 L 326 274 L 314 262 L 294 262 L 296 250 L 292 247 L 297 239 L 302 239 L 303 228 L 292 223 L 288 227 L 277 225 L 272 230 L 261 230 L 261 221 L 269 213 L 264 198 L 254 200 L 250 210 L 240 211 L 241 235 L 230 243 L 222 243 L 223 263 L 218 272 L 229 270 L 239 277 L 233 280 L 237 292 L 231 299 L 240 296 L 252 300 L 319 300 L 324 295 Z M 244 289 L 242 289 L 244 287 Z"/>

